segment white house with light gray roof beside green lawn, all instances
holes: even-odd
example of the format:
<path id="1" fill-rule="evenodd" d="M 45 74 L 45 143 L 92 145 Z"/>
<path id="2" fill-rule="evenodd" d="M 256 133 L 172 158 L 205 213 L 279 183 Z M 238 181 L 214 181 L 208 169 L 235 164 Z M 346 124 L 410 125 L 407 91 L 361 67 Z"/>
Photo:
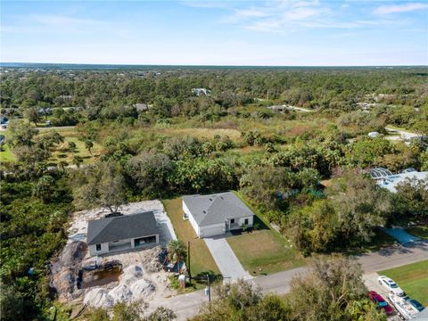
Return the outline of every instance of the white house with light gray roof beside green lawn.
<path id="1" fill-rule="evenodd" d="M 182 199 L 185 218 L 201 238 L 252 226 L 254 213 L 235 193 L 197 194 Z"/>

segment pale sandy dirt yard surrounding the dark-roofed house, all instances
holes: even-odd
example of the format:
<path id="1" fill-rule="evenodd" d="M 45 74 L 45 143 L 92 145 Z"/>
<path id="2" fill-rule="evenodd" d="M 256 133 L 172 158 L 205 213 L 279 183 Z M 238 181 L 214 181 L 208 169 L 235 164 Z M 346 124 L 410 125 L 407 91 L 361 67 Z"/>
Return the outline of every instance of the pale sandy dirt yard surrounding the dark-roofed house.
<path id="1" fill-rule="evenodd" d="M 56 289 L 59 299 L 68 303 L 83 302 L 94 307 L 110 308 L 121 300 L 143 299 L 150 303 L 150 300 L 175 294 L 175 290 L 169 288 L 169 273 L 162 269 L 162 260 L 165 257 L 162 248 L 165 248 L 170 240 L 177 239 L 177 236 L 162 203 L 135 202 L 119 209 L 124 215 L 149 210 L 153 211 L 160 230 L 160 246 L 93 258 L 89 257 L 86 246 L 87 221 L 103 218 L 108 211 L 84 210 L 74 213 L 66 246 L 51 265 L 51 285 Z M 106 284 L 98 279 L 105 275 L 109 280 L 109 269 L 102 273 L 87 272 L 91 271 L 91 267 L 100 267 L 111 262 L 119 262 L 121 269 L 119 273 L 117 269 L 111 271 L 114 276 L 111 276 L 110 283 Z M 82 276 L 91 276 L 93 279 L 90 284 L 95 286 L 87 286 L 88 280 L 82 280 Z"/>

